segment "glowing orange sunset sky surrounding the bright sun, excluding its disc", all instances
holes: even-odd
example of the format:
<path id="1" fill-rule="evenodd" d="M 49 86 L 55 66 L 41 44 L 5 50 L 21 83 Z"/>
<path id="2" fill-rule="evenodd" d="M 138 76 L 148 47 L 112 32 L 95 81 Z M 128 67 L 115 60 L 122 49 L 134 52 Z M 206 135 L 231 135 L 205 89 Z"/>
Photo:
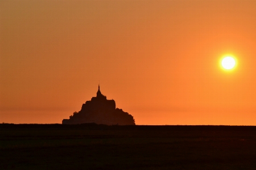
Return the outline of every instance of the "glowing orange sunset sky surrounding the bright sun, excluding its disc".
<path id="1" fill-rule="evenodd" d="M 101 92 L 139 125 L 256 125 L 256 1 L 0 1 L 0 122 Z M 225 54 L 235 70 L 219 65 Z"/>

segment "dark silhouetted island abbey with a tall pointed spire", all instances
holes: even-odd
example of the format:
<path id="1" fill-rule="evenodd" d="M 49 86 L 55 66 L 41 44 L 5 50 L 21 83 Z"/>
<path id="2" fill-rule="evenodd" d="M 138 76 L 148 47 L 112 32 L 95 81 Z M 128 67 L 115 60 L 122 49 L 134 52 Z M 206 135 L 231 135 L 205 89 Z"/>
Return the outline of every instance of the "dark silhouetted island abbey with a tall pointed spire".
<path id="1" fill-rule="evenodd" d="M 64 119 L 62 124 L 84 124 L 96 123 L 105 125 L 135 125 L 131 114 L 123 112 L 122 109 L 115 108 L 115 101 L 107 100 L 101 94 L 98 86 L 97 97 L 92 97 L 90 101 L 82 104 L 81 111 L 73 113 L 69 119 Z"/>

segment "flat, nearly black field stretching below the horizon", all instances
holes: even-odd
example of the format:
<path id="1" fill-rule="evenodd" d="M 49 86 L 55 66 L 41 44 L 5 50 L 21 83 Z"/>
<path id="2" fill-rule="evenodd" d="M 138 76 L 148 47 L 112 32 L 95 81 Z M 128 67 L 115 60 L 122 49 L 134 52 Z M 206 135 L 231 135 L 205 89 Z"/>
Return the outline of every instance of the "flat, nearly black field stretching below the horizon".
<path id="1" fill-rule="evenodd" d="M 256 169 L 256 126 L 0 124 L 0 169 Z"/>

